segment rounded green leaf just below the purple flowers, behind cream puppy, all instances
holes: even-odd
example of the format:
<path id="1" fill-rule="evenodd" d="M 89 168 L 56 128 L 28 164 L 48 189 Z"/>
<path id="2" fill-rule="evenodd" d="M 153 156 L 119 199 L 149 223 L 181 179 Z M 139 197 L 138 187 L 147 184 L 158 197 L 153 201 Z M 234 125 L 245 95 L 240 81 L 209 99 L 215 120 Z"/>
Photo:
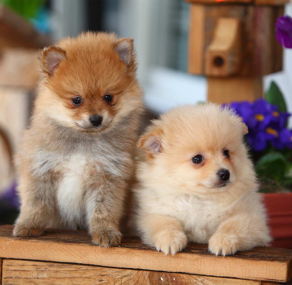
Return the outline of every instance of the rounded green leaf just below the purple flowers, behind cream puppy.
<path id="1" fill-rule="evenodd" d="M 256 172 L 261 176 L 280 181 L 284 178 L 287 161 L 280 152 L 270 152 L 261 157 L 256 163 Z"/>

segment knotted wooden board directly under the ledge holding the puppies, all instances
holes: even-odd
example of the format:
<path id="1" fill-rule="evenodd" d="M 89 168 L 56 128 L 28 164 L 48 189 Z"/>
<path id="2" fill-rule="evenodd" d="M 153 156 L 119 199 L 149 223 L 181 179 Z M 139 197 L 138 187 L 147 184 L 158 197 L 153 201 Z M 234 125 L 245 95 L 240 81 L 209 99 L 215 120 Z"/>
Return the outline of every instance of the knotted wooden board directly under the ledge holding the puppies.
<path id="1" fill-rule="evenodd" d="M 185 273 L 131 270 L 33 260 L 3 260 L 3 284 L 216 284 L 262 285 L 261 281 Z M 279 284 L 266 282 L 265 285 Z"/>

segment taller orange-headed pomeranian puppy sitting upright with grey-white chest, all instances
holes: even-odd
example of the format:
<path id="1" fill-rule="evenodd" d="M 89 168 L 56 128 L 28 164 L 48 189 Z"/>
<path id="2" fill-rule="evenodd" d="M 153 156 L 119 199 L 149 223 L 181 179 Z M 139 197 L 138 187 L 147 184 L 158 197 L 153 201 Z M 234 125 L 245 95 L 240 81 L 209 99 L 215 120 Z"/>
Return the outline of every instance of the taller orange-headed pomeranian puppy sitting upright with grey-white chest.
<path id="1" fill-rule="evenodd" d="M 86 229 L 119 244 L 143 112 L 133 39 L 83 33 L 39 55 L 46 74 L 17 155 L 20 215 L 14 236 Z"/>

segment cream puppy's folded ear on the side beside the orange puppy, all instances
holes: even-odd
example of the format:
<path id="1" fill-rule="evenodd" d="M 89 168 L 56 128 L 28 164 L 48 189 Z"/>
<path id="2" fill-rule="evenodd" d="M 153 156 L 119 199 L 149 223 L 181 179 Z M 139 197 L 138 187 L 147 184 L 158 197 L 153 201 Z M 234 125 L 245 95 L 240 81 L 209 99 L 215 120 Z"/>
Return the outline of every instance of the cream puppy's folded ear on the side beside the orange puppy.
<path id="1" fill-rule="evenodd" d="M 162 152 L 163 131 L 159 126 L 151 125 L 147 128 L 146 132 L 139 138 L 137 146 L 142 150 L 150 152 L 150 154 L 156 154 Z"/>

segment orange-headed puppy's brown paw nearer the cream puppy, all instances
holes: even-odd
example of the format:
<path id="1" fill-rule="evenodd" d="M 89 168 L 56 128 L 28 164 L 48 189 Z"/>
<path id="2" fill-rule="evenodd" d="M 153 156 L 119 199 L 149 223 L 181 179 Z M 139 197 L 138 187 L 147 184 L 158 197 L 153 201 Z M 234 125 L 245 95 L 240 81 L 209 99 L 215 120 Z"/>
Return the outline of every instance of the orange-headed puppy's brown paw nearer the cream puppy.
<path id="1" fill-rule="evenodd" d="M 92 242 L 99 246 L 109 247 L 121 243 L 122 234 L 111 227 L 101 228 L 91 234 Z"/>

